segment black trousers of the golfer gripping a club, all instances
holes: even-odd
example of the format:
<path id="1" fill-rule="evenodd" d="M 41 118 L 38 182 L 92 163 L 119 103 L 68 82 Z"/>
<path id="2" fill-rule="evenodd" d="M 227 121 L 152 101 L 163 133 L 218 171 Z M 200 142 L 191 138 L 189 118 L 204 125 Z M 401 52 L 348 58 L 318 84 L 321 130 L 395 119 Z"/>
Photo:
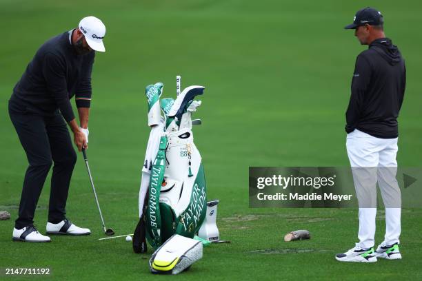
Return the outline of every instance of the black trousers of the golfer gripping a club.
<path id="1" fill-rule="evenodd" d="M 9 115 L 29 163 L 15 227 L 34 223 L 37 202 L 53 163 L 48 221 L 58 223 L 66 215 L 70 178 L 77 160 L 66 122 L 61 114 L 40 116 L 9 110 Z"/>

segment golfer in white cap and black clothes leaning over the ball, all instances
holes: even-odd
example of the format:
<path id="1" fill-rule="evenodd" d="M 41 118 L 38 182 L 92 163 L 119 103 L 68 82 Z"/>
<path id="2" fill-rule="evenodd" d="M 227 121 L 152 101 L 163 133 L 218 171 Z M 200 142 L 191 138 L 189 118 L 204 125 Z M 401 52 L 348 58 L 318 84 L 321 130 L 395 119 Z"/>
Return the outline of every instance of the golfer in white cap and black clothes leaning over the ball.
<path id="1" fill-rule="evenodd" d="M 26 67 L 9 101 L 10 119 L 25 149 L 29 167 L 23 180 L 14 241 L 50 242 L 34 227 L 34 213 L 48 171 L 51 177 L 47 233 L 88 235 L 90 229 L 66 218 L 70 178 L 77 160 L 66 123 L 78 150 L 88 148 L 88 116 L 94 51 L 105 52 L 106 27 L 86 17 L 78 28 L 46 41 Z M 70 98 L 76 96 L 79 125 Z M 66 122 L 65 122 L 66 121 Z"/>

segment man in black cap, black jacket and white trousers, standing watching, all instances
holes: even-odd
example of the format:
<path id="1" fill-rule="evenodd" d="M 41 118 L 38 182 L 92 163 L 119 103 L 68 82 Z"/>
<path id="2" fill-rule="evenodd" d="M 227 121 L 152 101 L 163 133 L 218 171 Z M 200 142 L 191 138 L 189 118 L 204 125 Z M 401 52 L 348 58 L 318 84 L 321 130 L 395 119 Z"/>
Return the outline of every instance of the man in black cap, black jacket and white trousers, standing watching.
<path id="1" fill-rule="evenodd" d="M 405 92 L 405 63 L 399 49 L 385 38 L 383 15 L 374 8 L 356 13 L 352 24 L 362 45 L 357 56 L 352 94 L 346 112 L 347 150 L 359 201 L 359 243 L 336 255 L 343 262 L 401 259 L 401 193 L 396 181 L 397 117 Z M 385 205 L 385 238 L 374 251 L 376 183 Z"/>

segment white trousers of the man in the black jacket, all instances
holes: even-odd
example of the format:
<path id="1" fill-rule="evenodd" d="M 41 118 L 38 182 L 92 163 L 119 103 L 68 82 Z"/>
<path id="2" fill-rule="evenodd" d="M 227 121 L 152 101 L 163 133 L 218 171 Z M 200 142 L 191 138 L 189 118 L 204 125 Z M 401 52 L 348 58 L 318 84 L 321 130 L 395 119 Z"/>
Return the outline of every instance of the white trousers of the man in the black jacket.
<path id="1" fill-rule="evenodd" d="M 346 147 L 359 201 L 359 246 L 374 247 L 376 183 L 385 205 L 383 243 L 399 243 L 401 232 L 401 192 L 396 180 L 397 138 L 375 138 L 355 129 L 348 134 Z"/>

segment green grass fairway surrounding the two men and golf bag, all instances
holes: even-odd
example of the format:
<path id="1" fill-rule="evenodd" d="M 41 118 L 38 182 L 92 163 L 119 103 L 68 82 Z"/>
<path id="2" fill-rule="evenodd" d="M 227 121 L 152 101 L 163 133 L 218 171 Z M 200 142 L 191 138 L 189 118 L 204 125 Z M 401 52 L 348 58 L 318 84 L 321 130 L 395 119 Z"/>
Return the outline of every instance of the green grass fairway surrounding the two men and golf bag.
<path id="1" fill-rule="evenodd" d="M 195 143 L 208 199 L 220 199 L 221 238 L 232 243 L 205 248 L 202 260 L 172 280 L 422 280 L 422 209 L 403 209 L 403 260 L 350 264 L 334 255 L 357 240 L 356 209 L 248 207 L 250 166 L 348 166 L 345 109 L 356 55 L 367 47 L 343 27 L 368 5 L 383 12 L 385 32 L 407 63 L 398 162 L 421 167 L 420 1 L 0 0 L 0 210 L 12 214 L 0 221 L 1 272 L 49 267 L 54 280 L 165 278 L 149 272 L 151 251 L 137 255 L 124 238 L 98 240 L 104 236 L 81 154 L 67 211 L 92 235 L 11 241 L 28 165 L 8 116 L 12 88 L 44 41 L 95 15 L 107 27 L 107 52 L 94 64 L 88 158 L 106 225 L 117 235 L 137 224 L 149 134 L 145 85 L 161 81 L 163 97 L 174 97 L 181 74 L 184 87 L 206 87 L 194 114 L 203 120 L 194 127 Z M 35 216 L 41 233 L 49 182 Z M 376 242 L 383 218 L 380 210 Z M 309 229 L 312 239 L 283 242 L 295 229 Z"/>

